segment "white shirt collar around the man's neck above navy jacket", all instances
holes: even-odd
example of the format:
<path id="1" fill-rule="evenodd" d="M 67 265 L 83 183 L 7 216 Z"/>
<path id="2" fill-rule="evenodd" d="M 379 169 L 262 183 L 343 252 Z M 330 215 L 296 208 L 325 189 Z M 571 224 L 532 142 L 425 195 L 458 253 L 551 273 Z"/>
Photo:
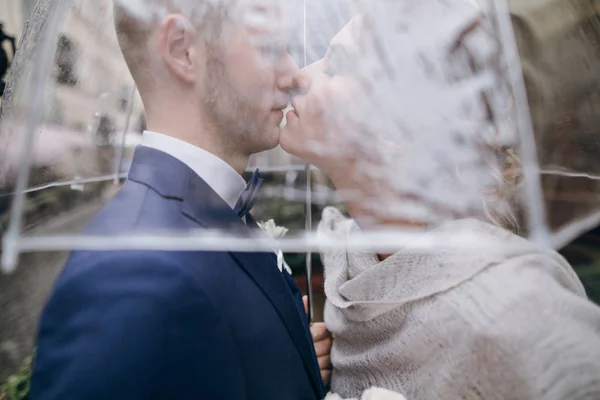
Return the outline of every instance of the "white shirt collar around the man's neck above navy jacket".
<path id="1" fill-rule="evenodd" d="M 231 208 L 235 207 L 246 189 L 246 181 L 233 167 L 200 147 L 152 131 L 144 131 L 141 144 L 167 153 L 187 165 Z"/>

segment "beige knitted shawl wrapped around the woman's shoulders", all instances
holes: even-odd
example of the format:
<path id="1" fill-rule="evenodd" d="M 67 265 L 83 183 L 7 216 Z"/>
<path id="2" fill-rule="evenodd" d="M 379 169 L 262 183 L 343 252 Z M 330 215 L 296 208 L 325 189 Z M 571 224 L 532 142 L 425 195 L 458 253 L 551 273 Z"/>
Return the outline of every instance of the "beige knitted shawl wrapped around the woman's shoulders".
<path id="1" fill-rule="evenodd" d="M 320 232 L 358 227 L 327 208 Z M 323 255 L 332 392 L 378 386 L 408 400 L 600 399 L 600 308 L 573 269 L 475 220 L 436 232 L 478 233 L 486 248 Z M 368 302 L 368 303 L 366 303 Z"/>

